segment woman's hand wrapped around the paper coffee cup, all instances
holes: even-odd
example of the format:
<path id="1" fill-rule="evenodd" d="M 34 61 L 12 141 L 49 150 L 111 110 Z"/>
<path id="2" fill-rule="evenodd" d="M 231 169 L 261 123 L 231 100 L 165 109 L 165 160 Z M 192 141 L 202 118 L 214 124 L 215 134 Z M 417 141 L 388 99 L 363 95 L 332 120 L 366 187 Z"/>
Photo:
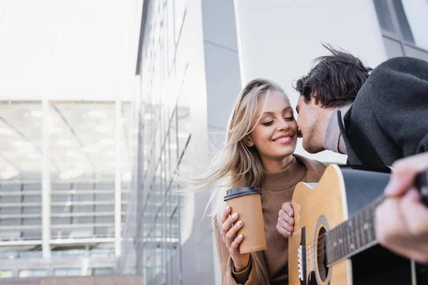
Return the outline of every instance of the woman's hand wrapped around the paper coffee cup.
<path id="1" fill-rule="evenodd" d="M 230 207 L 226 207 L 221 217 L 222 222 L 222 237 L 223 242 L 229 249 L 230 257 L 233 260 L 233 266 L 235 271 L 243 271 L 250 262 L 250 253 L 240 254 L 239 245 L 243 241 L 244 237 L 242 234 L 238 236 L 236 233 L 240 228 L 243 227 L 243 222 L 238 221 L 238 213 L 230 214 Z"/>

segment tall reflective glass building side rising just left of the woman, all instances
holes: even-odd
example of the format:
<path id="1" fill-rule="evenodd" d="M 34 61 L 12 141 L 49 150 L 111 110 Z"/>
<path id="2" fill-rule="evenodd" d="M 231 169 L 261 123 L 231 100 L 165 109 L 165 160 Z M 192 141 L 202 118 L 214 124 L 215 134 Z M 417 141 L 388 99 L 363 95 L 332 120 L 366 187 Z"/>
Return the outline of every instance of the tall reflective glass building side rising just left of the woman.
<path id="1" fill-rule="evenodd" d="M 146 284 L 214 284 L 209 193 L 178 195 L 173 174 L 198 175 L 223 141 L 240 89 L 233 2 L 145 1 L 141 27 L 135 212 L 118 270 Z"/>

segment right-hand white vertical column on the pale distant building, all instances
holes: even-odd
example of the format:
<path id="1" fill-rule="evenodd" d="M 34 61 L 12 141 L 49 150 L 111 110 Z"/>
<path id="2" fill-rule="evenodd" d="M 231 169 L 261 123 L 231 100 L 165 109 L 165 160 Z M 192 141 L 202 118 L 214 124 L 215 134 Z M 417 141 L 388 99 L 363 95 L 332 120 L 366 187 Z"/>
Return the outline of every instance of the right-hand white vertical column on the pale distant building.
<path id="1" fill-rule="evenodd" d="M 122 130 L 122 103 L 116 99 L 115 103 L 115 148 L 116 171 L 114 179 L 114 253 L 121 255 L 122 237 L 122 177 L 121 177 L 121 130 Z"/>

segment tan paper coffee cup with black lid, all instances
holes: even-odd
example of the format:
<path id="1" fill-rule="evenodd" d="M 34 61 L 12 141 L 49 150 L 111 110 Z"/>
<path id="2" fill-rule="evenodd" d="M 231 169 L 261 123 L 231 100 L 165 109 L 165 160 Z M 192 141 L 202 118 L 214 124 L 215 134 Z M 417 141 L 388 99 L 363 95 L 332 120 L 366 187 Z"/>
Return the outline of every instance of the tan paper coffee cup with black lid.
<path id="1" fill-rule="evenodd" d="M 261 192 L 255 187 L 233 188 L 226 192 L 224 200 L 230 207 L 230 213 L 238 213 L 243 222 L 236 236 L 243 234 L 239 252 L 257 252 L 266 249 L 265 224 L 263 222 Z"/>

